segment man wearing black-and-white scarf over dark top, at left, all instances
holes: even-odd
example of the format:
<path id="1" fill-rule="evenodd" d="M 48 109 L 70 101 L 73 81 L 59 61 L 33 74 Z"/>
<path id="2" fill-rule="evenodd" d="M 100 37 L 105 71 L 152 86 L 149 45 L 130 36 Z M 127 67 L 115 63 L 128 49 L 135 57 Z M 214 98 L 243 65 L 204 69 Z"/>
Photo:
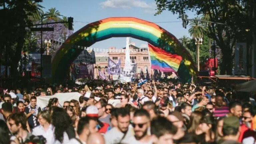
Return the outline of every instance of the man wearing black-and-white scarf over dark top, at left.
<path id="1" fill-rule="evenodd" d="M 34 127 L 38 126 L 38 120 L 37 120 L 37 114 L 41 111 L 41 108 L 36 105 L 36 97 L 31 96 L 30 98 L 30 105 L 28 107 L 25 107 L 24 111 L 28 118 L 28 124 L 30 129 L 33 129 Z"/>

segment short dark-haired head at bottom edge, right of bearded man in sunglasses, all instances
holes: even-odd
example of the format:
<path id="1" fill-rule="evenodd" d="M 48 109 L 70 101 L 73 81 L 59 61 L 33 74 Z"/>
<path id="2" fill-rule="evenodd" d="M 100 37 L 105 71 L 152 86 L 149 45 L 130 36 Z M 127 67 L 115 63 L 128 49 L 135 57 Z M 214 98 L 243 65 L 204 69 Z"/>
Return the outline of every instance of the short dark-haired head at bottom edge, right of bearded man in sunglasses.
<path id="1" fill-rule="evenodd" d="M 154 144 L 172 144 L 177 128 L 166 118 L 157 117 L 151 121 L 150 132 Z"/>

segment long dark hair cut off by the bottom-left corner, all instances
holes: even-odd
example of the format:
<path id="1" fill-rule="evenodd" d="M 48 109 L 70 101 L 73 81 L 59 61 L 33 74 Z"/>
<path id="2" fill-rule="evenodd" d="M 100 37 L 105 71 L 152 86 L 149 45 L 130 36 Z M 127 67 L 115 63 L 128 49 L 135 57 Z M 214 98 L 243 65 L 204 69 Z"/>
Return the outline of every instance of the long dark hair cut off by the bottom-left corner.
<path id="1" fill-rule="evenodd" d="M 9 129 L 5 121 L 0 120 L 0 144 L 9 144 L 9 143 L 10 143 Z"/>

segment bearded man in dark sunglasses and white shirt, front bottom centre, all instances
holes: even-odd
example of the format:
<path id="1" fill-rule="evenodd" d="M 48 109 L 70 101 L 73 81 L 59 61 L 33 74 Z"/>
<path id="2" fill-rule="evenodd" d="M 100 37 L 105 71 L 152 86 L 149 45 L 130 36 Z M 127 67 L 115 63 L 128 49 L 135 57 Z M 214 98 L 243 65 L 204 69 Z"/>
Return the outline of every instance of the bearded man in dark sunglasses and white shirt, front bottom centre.
<path id="1" fill-rule="evenodd" d="M 150 135 L 147 134 L 150 127 L 150 115 L 144 109 L 139 109 L 134 112 L 133 123 L 135 135 L 124 141 L 129 144 L 152 144 Z"/>

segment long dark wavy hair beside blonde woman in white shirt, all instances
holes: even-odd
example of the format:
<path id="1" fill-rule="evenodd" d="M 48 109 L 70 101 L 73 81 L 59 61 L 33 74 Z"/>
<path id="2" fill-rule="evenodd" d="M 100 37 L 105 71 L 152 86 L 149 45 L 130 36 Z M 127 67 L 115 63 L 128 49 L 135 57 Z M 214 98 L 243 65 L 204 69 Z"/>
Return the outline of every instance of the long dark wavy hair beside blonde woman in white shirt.
<path id="1" fill-rule="evenodd" d="M 55 127 L 54 136 L 55 139 L 63 142 L 63 134 L 72 124 L 72 120 L 67 112 L 59 107 L 55 107 L 52 113 L 52 125 Z"/>

